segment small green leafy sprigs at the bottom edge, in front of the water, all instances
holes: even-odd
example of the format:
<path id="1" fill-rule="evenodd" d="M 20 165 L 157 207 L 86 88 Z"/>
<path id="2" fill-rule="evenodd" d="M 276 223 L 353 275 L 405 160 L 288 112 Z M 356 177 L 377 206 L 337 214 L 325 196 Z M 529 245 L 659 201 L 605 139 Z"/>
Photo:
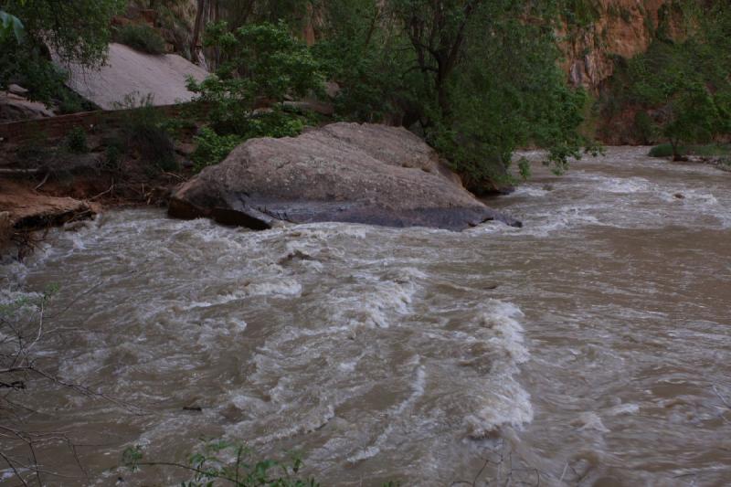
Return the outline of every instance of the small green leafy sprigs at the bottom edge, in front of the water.
<path id="1" fill-rule="evenodd" d="M 207 443 L 200 451 L 190 456 L 187 464 L 171 462 L 144 462 L 142 449 L 138 446 L 124 450 L 124 466 L 139 470 L 142 466 L 164 465 L 177 467 L 190 473 L 184 487 L 212 486 L 225 482 L 236 487 L 316 487 L 313 478 L 302 476 L 302 460 L 291 455 L 288 461 L 259 460 L 254 451 L 227 441 Z M 229 460 L 230 459 L 230 460 Z"/>

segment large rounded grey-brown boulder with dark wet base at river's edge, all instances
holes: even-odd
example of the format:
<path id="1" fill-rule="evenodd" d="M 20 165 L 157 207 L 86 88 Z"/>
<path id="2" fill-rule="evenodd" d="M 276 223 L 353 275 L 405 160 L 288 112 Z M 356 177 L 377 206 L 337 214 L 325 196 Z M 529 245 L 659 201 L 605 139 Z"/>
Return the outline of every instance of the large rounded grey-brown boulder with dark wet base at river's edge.
<path id="1" fill-rule="evenodd" d="M 460 230 L 498 219 L 520 226 L 465 190 L 413 133 L 357 123 L 249 140 L 181 185 L 169 214 L 255 229 L 278 220 Z"/>

